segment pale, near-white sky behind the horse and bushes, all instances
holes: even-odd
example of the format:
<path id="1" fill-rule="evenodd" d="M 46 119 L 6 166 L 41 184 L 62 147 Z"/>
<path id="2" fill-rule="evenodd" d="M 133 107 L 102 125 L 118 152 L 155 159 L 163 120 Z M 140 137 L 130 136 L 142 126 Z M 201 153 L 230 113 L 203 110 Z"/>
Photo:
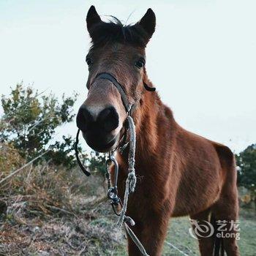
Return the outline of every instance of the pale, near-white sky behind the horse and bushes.
<path id="1" fill-rule="evenodd" d="M 87 94 L 91 4 L 103 20 L 124 23 L 151 7 L 157 27 L 146 68 L 176 121 L 236 153 L 256 142 L 254 0 L 0 0 L 0 94 L 21 81 L 58 97 L 76 91 L 76 112 Z M 58 133 L 75 135 L 75 122 Z"/>

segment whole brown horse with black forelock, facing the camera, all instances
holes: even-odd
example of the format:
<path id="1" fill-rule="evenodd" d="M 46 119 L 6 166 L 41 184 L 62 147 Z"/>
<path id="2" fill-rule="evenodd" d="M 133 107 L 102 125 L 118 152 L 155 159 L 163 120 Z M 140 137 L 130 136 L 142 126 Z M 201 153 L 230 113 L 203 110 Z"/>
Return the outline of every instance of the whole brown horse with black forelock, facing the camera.
<path id="1" fill-rule="evenodd" d="M 159 98 L 148 80 L 145 48 L 155 30 L 154 12 L 148 9 L 135 25 L 115 19 L 105 23 L 92 6 L 86 18 L 92 46 L 89 65 L 89 94 L 81 106 L 77 124 L 86 142 L 96 151 L 117 148 L 124 135 L 127 110 L 120 91 L 111 80 L 97 77 L 108 73 L 124 87 L 136 126 L 135 192 L 129 197 L 127 215 L 135 220 L 132 230 L 149 255 L 161 255 L 170 217 L 189 215 L 198 221 L 226 221 L 222 241 L 214 235 L 200 238 L 201 255 L 219 255 L 217 242 L 227 255 L 238 255 L 232 221 L 238 218 L 236 163 L 227 146 L 195 135 L 180 127 L 173 113 Z M 120 167 L 118 189 L 124 195 L 127 178 L 127 149 L 117 154 Z M 215 246 L 214 246 L 215 245 Z M 215 247 L 215 249 L 214 249 Z M 214 252 L 215 250 L 215 252 Z M 140 255 L 128 240 L 129 255 Z"/>

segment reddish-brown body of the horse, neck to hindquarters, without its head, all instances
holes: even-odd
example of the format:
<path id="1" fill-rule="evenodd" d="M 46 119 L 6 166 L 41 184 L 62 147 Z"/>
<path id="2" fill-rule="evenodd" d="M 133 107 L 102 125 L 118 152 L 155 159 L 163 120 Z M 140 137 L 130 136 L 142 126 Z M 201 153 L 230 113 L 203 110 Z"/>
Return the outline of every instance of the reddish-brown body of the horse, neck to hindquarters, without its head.
<path id="1" fill-rule="evenodd" d="M 237 218 L 236 170 L 229 148 L 180 127 L 157 94 L 145 94 L 135 112 L 135 124 L 138 183 L 129 197 L 127 214 L 135 219 L 135 234 L 149 255 L 161 255 L 170 217 L 207 212 L 209 220 L 212 212 L 221 219 Z M 127 152 L 118 154 L 118 162 L 118 189 L 124 195 Z M 231 210 L 225 217 L 219 203 Z M 235 249 L 230 255 L 236 255 L 236 244 L 231 244 Z M 200 249 L 202 255 L 212 255 L 214 243 L 201 243 Z M 129 255 L 140 255 L 132 241 Z"/>

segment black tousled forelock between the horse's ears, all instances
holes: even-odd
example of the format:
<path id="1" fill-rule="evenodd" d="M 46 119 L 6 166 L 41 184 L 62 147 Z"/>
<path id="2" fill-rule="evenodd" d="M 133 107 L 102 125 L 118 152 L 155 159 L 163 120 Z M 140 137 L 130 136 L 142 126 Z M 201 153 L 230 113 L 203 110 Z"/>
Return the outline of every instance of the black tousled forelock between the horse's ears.
<path id="1" fill-rule="evenodd" d="M 108 43 L 120 42 L 145 48 L 148 34 L 139 23 L 124 25 L 121 20 L 111 16 L 109 22 L 96 23 L 90 30 L 91 48 L 100 47 Z"/>

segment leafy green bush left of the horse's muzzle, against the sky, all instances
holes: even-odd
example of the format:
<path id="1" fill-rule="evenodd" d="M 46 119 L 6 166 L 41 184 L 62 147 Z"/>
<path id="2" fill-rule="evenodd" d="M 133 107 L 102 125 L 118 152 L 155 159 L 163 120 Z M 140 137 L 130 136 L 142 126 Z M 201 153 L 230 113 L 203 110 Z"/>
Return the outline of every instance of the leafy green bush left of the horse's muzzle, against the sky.
<path id="1" fill-rule="evenodd" d="M 77 94 L 62 96 L 61 102 L 53 95 L 42 95 L 22 83 L 12 89 L 10 96 L 1 96 L 4 116 L 0 121 L 0 142 L 12 144 L 28 161 L 50 148 L 49 154 L 56 164 L 74 165 L 73 142 L 63 137 L 53 145 L 56 128 L 73 121 L 72 107 Z"/>

